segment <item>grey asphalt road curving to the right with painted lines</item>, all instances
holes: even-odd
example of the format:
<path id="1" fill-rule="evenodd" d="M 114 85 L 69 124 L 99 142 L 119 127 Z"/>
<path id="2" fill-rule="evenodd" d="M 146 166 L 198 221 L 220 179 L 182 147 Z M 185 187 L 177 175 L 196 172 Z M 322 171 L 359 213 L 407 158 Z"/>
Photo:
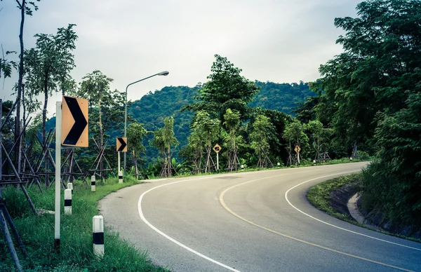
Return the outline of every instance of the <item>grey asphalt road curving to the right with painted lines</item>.
<path id="1" fill-rule="evenodd" d="M 305 195 L 366 163 L 164 179 L 100 202 L 105 228 L 173 271 L 421 271 L 421 244 L 342 222 Z M 105 249 L 107 250 L 107 249 Z"/>

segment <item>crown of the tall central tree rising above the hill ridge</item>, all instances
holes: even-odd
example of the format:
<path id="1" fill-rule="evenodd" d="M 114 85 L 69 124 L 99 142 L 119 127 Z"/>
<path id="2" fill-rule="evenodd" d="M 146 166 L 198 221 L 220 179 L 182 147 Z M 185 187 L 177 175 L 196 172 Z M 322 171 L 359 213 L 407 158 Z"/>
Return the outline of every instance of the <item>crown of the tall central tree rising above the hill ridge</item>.
<path id="1" fill-rule="evenodd" d="M 242 120 L 248 118 L 250 109 L 247 104 L 253 100 L 259 88 L 240 75 L 241 69 L 234 67 L 226 57 L 215 55 L 208 82 L 203 84 L 196 97 L 198 102 L 189 104 L 184 109 L 208 111 L 211 118 L 219 118 L 224 123 L 227 109 L 236 110 Z"/>

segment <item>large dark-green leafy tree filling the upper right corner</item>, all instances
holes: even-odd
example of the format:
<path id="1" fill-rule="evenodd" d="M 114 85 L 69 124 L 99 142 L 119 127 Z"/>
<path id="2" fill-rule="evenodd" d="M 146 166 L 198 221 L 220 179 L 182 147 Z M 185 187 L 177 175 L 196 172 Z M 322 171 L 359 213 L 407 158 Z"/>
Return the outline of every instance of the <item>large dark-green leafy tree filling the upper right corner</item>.
<path id="1" fill-rule="evenodd" d="M 377 112 L 392 114 L 405 106 L 421 64 L 421 1 L 369 0 L 356 9 L 358 18 L 335 19 L 346 32 L 337 40 L 345 52 L 321 65 L 316 84 L 335 101 L 324 114 L 332 116 L 335 140 L 346 147 L 373 146 Z"/>

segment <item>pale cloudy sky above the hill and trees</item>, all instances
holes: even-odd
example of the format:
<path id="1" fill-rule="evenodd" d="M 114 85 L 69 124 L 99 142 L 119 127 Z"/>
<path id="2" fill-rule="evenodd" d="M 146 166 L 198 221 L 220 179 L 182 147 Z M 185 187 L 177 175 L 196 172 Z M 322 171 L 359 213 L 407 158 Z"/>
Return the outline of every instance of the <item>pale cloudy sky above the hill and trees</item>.
<path id="1" fill-rule="evenodd" d="M 292 83 L 320 77 L 320 64 L 342 52 L 335 44 L 342 29 L 335 18 L 356 17 L 356 0 L 41 0 L 25 19 L 25 48 L 34 34 L 55 34 L 76 24 L 72 76 L 81 82 L 99 69 L 114 79 L 128 100 L 164 86 L 196 86 L 207 81 L 214 55 L 222 55 L 252 81 Z M 15 0 L 0 1 L 0 43 L 19 50 L 20 11 Z M 18 60 L 18 55 L 11 57 Z M 0 83 L 0 98 L 11 99 L 11 79 Z M 48 106 L 54 111 L 60 94 Z"/>

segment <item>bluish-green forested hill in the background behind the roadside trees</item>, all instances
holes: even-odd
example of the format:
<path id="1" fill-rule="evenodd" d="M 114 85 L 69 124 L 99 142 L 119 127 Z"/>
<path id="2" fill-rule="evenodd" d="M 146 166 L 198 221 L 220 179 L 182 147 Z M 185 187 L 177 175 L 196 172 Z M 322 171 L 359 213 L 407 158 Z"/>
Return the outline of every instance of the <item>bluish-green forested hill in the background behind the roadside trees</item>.
<path id="1" fill-rule="evenodd" d="M 260 92 L 255 96 L 255 100 L 250 103 L 251 107 L 262 107 L 262 109 L 276 109 L 286 114 L 292 114 L 291 109 L 297 103 L 303 102 L 305 97 L 314 93 L 309 90 L 307 83 L 273 83 L 255 81 Z M 189 88 L 187 86 L 164 87 L 155 92 L 149 92 L 140 100 L 135 100 L 128 109 L 139 123 L 143 123 L 145 129 L 154 131 L 163 127 L 163 119 L 174 114 L 174 133 L 180 144 L 175 149 L 175 156 L 181 147 L 187 144 L 189 135 L 189 125 L 192 121 L 192 113 L 188 111 L 180 112 L 180 108 L 194 101 L 197 90 L 201 86 Z M 152 139 L 149 135 L 148 140 Z M 157 150 L 149 147 L 148 140 L 145 140 L 146 157 L 150 161 L 158 156 Z"/>

